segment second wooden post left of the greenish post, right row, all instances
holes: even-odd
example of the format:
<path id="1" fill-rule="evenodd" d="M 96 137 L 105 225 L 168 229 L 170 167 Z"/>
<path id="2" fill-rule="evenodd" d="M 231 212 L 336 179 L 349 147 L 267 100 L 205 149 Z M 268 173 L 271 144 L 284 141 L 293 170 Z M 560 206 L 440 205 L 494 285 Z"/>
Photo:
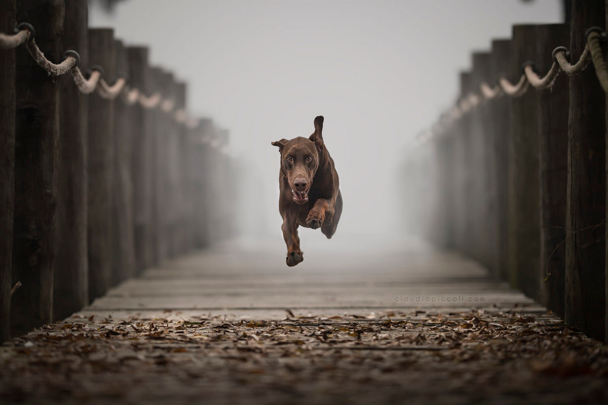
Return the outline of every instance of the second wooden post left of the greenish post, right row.
<path id="1" fill-rule="evenodd" d="M 475 94 L 480 93 L 480 85 L 490 80 L 490 55 L 485 52 L 475 52 L 472 57 L 471 84 Z M 469 204 L 472 208 L 472 256 L 481 264 L 488 267 L 490 274 L 496 275 L 496 266 L 490 253 L 491 240 L 496 240 L 496 216 L 490 215 L 490 206 L 494 202 L 494 194 L 490 186 L 495 180 L 491 177 L 489 165 L 494 162 L 493 149 L 488 148 L 489 119 L 488 105 L 480 102 L 471 115 L 471 182 L 472 194 Z"/>

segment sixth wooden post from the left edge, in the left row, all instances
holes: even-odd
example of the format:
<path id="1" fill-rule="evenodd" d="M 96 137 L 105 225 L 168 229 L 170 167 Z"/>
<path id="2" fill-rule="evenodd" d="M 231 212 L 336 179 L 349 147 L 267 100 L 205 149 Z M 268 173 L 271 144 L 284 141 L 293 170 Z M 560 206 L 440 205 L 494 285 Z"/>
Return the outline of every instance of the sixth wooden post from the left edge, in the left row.
<path id="1" fill-rule="evenodd" d="M 129 82 L 131 87 L 142 92 L 148 92 L 148 48 L 127 48 Z M 133 183 L 133 234 L 135 240 L 135 259 L 137 274 L 140 274 L 151 264 L 150 217 L 151 201 L 148 182 L 148 166 L 150 160 L 150 128 L 151 115 L 139 103 L 130 107 L 131 138 L 133 151 L 131 154 L 131 181 Z"/>

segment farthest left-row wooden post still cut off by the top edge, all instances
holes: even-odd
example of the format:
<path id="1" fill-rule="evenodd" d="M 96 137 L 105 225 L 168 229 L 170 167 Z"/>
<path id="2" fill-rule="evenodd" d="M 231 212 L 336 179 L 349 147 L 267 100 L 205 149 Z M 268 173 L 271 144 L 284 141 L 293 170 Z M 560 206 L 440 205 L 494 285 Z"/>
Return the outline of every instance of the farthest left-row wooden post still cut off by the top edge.
<path id="1" fill-rule="evenodd" d="M 82 69 L 88 66 L 88 2 L 68 1 L 65 7 L 63 48 L 77 50 Z M 60 78 L 60 95 L 54 319 L 64 319 L 89 304 L 86 239 L 89 96 L 80 93 L 69 74 Z"/>

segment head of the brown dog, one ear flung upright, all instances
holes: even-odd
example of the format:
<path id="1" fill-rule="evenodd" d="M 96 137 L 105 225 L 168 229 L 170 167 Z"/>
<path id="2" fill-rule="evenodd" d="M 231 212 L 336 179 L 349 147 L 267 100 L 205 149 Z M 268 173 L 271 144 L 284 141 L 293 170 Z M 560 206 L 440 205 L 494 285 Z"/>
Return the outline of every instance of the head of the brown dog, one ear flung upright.
<path id="1" fill-rule="evenodd" d="M 308 202 L 308 191 L 313 184 L 314 174 L 319 168 L 319 156 L 323 151 L 323 117 L 314 119 L 314 133 L 308 138 L 297 137 L 272 142 L 281 154 L 281 169 L 287 175 L 287 182 L 298 204 Z"/>

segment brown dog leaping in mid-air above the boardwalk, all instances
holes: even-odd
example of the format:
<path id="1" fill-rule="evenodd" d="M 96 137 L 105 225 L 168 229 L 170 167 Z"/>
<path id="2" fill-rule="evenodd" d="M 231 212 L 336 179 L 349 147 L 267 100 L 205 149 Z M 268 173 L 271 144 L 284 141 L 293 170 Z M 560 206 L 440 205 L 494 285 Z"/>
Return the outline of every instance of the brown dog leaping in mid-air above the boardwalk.
<path id="1" fill-rule="evenodd" d="M 321 228 L 330 239 L 342 214 L 342 194 L 330 152 L 323 143 L 323 117 L 314 119 L 314 134 L 272 142 L 281 154 L 278 211 L 283 217 L 287 265 L 302 262 L 298 226 Z"/>

